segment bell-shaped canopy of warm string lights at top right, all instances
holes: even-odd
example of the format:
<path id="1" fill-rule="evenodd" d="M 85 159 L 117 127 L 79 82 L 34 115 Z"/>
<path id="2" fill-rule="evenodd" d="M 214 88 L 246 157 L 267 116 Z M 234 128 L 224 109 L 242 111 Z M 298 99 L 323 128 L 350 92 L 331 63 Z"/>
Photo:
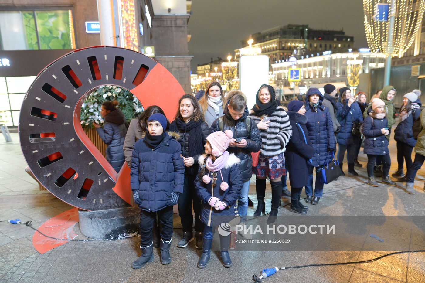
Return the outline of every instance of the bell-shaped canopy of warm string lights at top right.
<path id="1" fill-rule="evenodd" d="M 415 40 L 416 34 L 421 27 L 423 14 L 425 11 L 425 0 L 417 0 L 412 3 L 411 0 L 396 0 L 395 23 L 394 23 L 394 41 L 391 57 L 402 57 Z M 365 15 L 364 24 L 366 39 L 372 52 L 388 53 L 388 25 L 389 21 L 376 21 L 374 15 L 377 14 L 375 7 L 380 3 L 388 3 L 389 11 L 391 0 L 363 0 L 363 12 Z"/>

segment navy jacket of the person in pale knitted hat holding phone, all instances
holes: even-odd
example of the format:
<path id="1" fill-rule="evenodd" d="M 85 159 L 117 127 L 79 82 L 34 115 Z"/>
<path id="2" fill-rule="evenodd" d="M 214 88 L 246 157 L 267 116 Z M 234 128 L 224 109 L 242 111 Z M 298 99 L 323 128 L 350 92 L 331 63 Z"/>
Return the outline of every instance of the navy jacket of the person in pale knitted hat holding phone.
<path id="1" fill-rule="evenodd" d="M 363 122 L 363 136 L 365 136 L 365 145 L 363 152 L 365 154 L 374 155 L 387 155 L 388 151 L 388 140 L 385 135 L 382 134 L 381 129 L 388 127 L 388 120 L 376 119 L 371 116 L 367 116 Z"/>

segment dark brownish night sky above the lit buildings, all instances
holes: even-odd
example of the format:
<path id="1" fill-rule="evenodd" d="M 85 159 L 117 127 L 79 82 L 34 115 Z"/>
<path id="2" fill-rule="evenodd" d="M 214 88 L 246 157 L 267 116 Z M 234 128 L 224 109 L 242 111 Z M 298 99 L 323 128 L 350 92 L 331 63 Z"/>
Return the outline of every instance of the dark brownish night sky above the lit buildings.
<path id="1" fill-rule="evenodd" d="M 192 12 L 188 31 L 193 73 L 211 57 L 233 55 L 249 34 L 280 25 L 343 29 L 354 36 L 354 48 L 367 48 L 361 0 L 193 0 Z"/>

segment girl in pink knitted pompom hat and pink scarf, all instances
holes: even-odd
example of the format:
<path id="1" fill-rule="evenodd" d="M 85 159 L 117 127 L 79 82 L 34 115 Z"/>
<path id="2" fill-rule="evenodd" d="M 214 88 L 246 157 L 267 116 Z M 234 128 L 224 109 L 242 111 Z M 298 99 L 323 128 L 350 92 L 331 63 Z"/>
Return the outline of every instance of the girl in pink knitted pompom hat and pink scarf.
<path id="1" fill-rule="evenodd" d="M 242 188 L 239 169 L 241 160 L 227 151 L 232 137 L 231 130 L 210 134 L 205 144 L 205 154 L 198 158 L 199 174 L 195 180 L 195 188 L 202 201 L 201 221 L 205 224 L 199 268 L 205 268 L 210 260 L 215 227 L 224 225 L 224 229 L 229 229 L 227 222 L 238 215 L 235 202 Z M 220 235 L 220 256 L 224 267 L 232 266 L 229 243 L 230 231 L 229 235 Z"/>

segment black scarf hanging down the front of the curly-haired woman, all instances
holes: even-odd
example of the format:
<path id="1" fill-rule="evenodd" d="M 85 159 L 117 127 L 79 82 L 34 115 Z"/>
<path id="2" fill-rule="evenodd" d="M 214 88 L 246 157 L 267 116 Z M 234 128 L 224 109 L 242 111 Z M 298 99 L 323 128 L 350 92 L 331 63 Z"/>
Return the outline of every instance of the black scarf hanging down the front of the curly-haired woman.
<path id="1" fill-rule="evenodd" d="M 202 128 L 201 125 L 204 121 L 199 120 L 195 122 L 190 120 L 185 123 L 182 119 L 177 118 L 170 125 L 170 131 L 172 132 L 189 132 L 189 157 L 193 157 L 198 153 L 204 152 L 204 142 L 202 141 Z"/>

